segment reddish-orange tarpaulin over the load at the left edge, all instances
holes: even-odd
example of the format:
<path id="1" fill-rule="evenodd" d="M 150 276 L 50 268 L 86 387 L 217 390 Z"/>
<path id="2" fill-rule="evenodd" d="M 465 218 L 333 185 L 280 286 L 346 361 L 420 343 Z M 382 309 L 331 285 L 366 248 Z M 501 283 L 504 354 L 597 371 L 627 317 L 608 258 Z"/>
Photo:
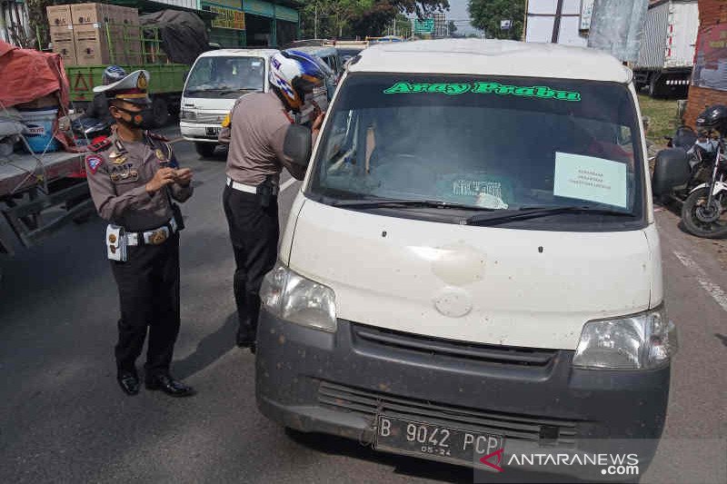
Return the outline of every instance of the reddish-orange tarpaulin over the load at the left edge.
<path id="1" fill-rule="evenodd" d="M 68 105 L 68 79 L 60 54 L 20 49 L 0 41 L 0 103 L 10 107 L 58 92 Z"/>

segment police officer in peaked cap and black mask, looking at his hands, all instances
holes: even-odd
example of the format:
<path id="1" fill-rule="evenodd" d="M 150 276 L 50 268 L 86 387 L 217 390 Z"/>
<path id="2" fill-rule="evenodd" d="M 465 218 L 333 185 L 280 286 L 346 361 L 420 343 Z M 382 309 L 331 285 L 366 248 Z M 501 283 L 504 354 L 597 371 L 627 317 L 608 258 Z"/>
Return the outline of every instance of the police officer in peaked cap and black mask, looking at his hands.
<path id="1" fill-rule="evenodd" d="M 85 168 L 91 195 L 110 222 L 106 246 L 121 303 L 115 347 L 117 380 L 139 392 L 135 361 L 149 333 L 144 382 L 148 390 L 183 397 L 192 388 L 169 373 L 179 332 L 179 207 L 192 196 L 192 172 L 180 168 L 164 137 L 150 133 L 149 73 L 135 71 L 97 86 L 115 119 L 109 138 L 90 146 Z"/>

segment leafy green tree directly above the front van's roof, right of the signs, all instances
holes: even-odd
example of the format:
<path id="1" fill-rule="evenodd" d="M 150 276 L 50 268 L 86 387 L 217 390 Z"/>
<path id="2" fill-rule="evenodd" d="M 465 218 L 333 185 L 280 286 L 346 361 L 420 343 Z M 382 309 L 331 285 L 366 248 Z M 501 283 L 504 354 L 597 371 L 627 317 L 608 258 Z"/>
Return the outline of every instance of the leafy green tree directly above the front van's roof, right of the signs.
<path id="1" fill-rule="evenodd" d="M 520 40 L 525 18 L 524 0 L 469 0 L 467 6 L 472 25 L 483 29 L 488 37 Z M 500 29 L 501 20 L 510 20 L 509 30 Z"/>

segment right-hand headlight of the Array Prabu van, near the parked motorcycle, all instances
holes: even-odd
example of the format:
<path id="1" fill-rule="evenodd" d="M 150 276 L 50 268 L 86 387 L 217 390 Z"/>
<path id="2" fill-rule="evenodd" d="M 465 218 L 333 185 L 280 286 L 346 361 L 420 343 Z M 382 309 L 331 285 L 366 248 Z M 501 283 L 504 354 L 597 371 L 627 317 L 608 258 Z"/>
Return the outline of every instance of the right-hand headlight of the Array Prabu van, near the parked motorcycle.
<path id="1" fill-rule="evenodd" d="M 663 307 L 623 318 L 588 321 L 573 366 L 609 370 L 652 370 L 667 364 L 678 348 L 676 327 Z"/>

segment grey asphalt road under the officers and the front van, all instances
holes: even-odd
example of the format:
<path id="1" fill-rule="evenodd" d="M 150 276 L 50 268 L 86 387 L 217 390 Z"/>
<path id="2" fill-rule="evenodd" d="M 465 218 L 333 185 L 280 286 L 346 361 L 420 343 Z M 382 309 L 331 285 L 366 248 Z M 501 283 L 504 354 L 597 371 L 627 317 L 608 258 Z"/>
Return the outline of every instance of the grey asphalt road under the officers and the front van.
<path id="1" fill-rule="evenodd" d="M 174 374 L 198 394 L 121 393 L 105 224 L 68 226 L 0 260 L 0 482 L 472 482 L 467 469 L 285 432 L 258 413 L 254 356 L 234 347 L 224 159 L 201 161 L 189 143 L 175 148 L 196 188 L 184 205 Z M 298 187 L 281 194 L 282 222 Z M 727 243 L 684 234 L 671 212 L 658 220 L 681 351 L 665 440 L 642 481 L 727 482 Z M 488 480 L 524 479 L 503 472 Z"/>

